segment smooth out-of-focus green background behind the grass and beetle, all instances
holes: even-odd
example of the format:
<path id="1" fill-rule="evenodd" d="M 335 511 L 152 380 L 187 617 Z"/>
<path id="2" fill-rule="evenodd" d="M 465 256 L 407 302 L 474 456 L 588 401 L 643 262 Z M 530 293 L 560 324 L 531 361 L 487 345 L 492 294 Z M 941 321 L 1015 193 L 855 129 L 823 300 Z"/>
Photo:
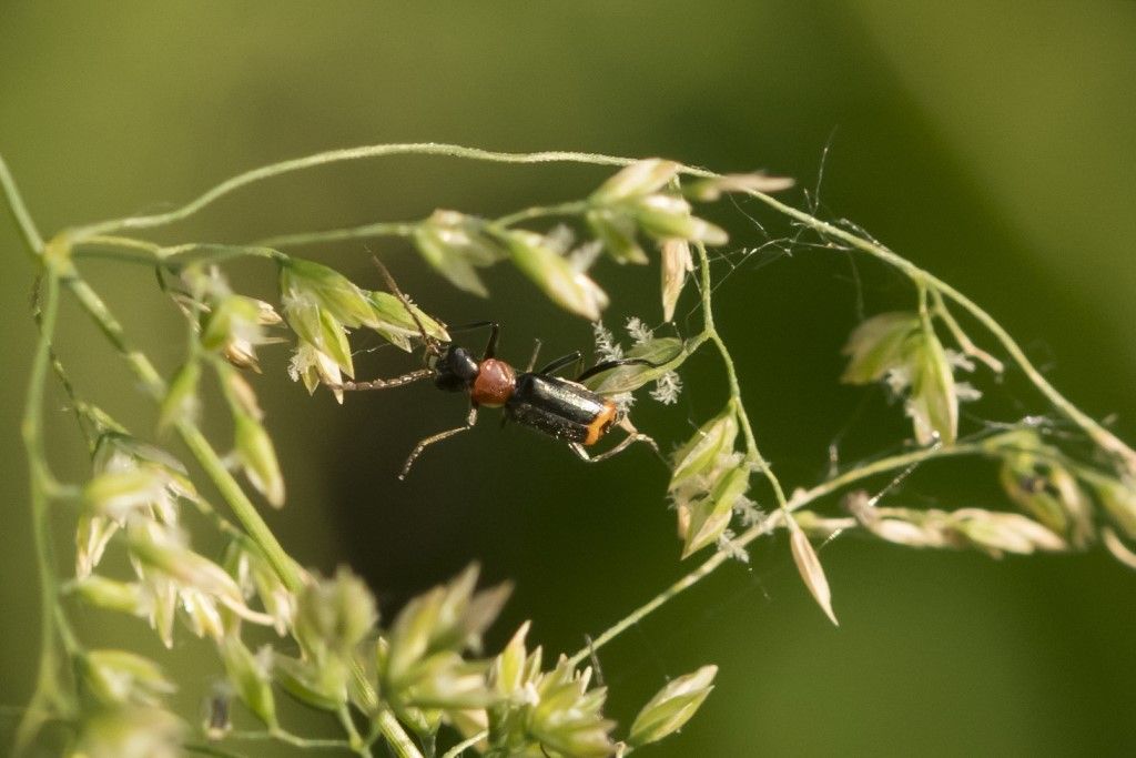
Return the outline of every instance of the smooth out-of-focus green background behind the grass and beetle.
<path id="1" fill-rule="evenodd" d="M 661 155 L 766 168 L 808 188 L 829 145 L 826 217 L 853 219 L 972 295 L 1069 398 L 1114 414 L 1117 430 L 1136 438 L 1136 3 L 0 2 L 0 151 L 45 232 L 160 209 L 278 159 L 396 141 Z M 159 239 L 245 241 L 435 207 L 502 214 L 580 197 L 607 174 L 436 158 L 353 164 L 241 192 Z M 791 197 L 805 202 L 800 190 Z M 787 232 L 759 206 L 716 213 L 737 247 L 763 241 L 746 215 Z M 503 322 L 516 363 L 535 338 L 546 356 L 590 343 L 586 324 L 512 272 L 488 275 L 496 294 L 485 302 L 398 244 L 373 247 L 450 323 Z M 0 703 L 17 705 L 36 656 L 17 433 L 34 330 L 32 269 L 7 217 L 0 249 L 10 261 L 0 280 L 9 386 Z M 361 244 L 304 252 L 376 280 Z M 176 366 L 183 331 L 152 275 L 106 264 L 87 273 L 135 341 L 164 370 Z M 266 267 L 234 276 L 272 293 Z M 632 314 L 658 322 L 657 272 L 601 265 L 596 276 L 619 295 L 612 324 Z M 886 272 L 808 248 L 752 257 L 719 290 L 759 441 L 790 486 L 824 475 L 829 443 L 850 461 L 907 433 L 878 393 L 835 383 L 861 298 L 869 314 L 910 303 Z M 80 390 L 135 431 L 152 428 L 119 361 L 75 309 L 64 319 L 59 350 Z M 531 640 L 573 651 L 687 568 L 666 474 L 643 450 L 584 467 L 556 443 L 486 419 L 399 484 L 415 441 L 459 422 L 459 399 L 424 385 L 350 398 L 344 409 L 287 382 L 282 349 L 264 363 L 256 385 L 290 488 L 270 522 L 303 564 L 350 563 L 389 617 L 479 560 L 490 580 L 517 583 L 492 647 L 532 618 Z M 381 351 L 367 368 L 407 365 Z M 721 402 L 709 358 L 692 365 L 686 386 L 676 407 L 640 403 L 638 425 L 665 447 Z M 58 393 L 52 403 L 58 467 L 82 476 L 81 442 Z M 1009 420 L 1044 410 L 1010 378 L 975 413 Z M 226 439 L 223 424 L 214 428 Z M 920 472 L 896 501 L 997 502 L 991 470 L 962 470 Z M 784 541 L 759 543 L 751 566 L 725 567 L 603 651 L 610 714 L 626 725 L 668 676 L 717 663 L 702 713 L 652 755 L 1136 750 L 1136 577 L 1101 551 L 997 563 L 842 539 L 822 558 L 840 628 L 800 585 Z M 139 623 L 83 622 L 94 639 L 153 650 Z M 193 702 L 216 673 L 192 663 L 201 643 L 178 640 L 173 653 L 153 652 Z"/>

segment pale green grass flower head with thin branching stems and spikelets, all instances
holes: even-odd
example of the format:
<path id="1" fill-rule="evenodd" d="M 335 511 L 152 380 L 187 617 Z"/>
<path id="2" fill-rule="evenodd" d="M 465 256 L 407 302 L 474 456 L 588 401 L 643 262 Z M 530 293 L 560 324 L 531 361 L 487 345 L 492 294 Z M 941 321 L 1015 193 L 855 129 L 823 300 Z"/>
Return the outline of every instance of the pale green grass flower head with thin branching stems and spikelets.
<path id="1" fill-rule="evenodd" d="M 506 164 L 577 163 L 619 170 L 583 200 L 524 208 L 498 218 L 434 210 L 417 222 L 374 220 L 283 233 L 251 244 L 162 245 L 139 236 L 190 218 L 258 182 L 399 155 Z M 226 741 L 241 740 L 370 756 L 382 740 L 401 758 L 420 758 L 435 755 L 440 731 L 448 726 L 445 740 L 452 747 L 446 757 L 468 750 L 490 756 L 615 755 L 677 731 L 712 689 L 717 669 L 705 666 L 667 684 L 618 742 L 612 736 L 615 724 L 603 716 L 604 690 L 594 688 L 591 669 L 580 666 L 729 559 L 745 559 L 750 545 L 776 528 L 788 533 L 803 582 L 834 622 L 832 592 L 810 539 L 842 531 L 909 547 L 975 549 L 995 557 L 1081 550 L 1100 541 L 1119 560 L 1136 566 L 1136 551 L 1128 547 L 1136 541 L 1136 452 L 1061 395 L 1005 330 L 963 294 L 867 235 L 772 195 L 791 184 L 779 177 L 721 175 L 661 159 L 563 151 L 507 153 L 436 143 L 369 145 L 257 168 L 173 210 L 77 226 L 45 242 L 0 159 L 0 189 L 41 280 L 40 336 L 23 419 L 41 583 L 41 660 L 35 692 L 23 713 L 19 747 L 30 745 L 55 720 L 70 731 L 76 750 L 92 752 L 112 751 L 114 740 L 131 734 L 148 740 L 156 756 L 174 755 L 178 747 L 203 755 L 233 755 Z M 852 384 L 884 383 L 901 397 L 917 447 L 858 464 L 787 494 L 758 447 L 743 382 L 715 322 L 708 247 L 724 244 L 726 233 L 695 216 L 692 203 L 713 201 L 726 192 L 757 198 L 818 234 L 825 245 L 872 256 L 910 281 L 916 308 L 880 314 L 859 325 L 845 348 L 849 365 L 842 378 Z M 535 231 L 554 222 L 561 225 Z M 285 501 L 285 477 L 275 444 L 244 378 L 244 372 L 261 369 L 258 349 L 279 341 L 266 330 L 286 325 L 295 336 L 293 378 L 309 391 L 327 388 L 341 401 L 344 390 L 399 384 L 354 381 L 352 331 L 374 331 L 404 350 L 414 349 L 416 342 L 434 350 L 449 343 L 444 323 L 410 303 L 396 288 L 393 293 L 371 292 L 333 268 L 284 252 L 376 236 L 410 241 L 453 285 L 482 295 L 488 291 L 477 269 L 509 261 L 554 303 L 593 322 L 599 322 L 609 302 L 590 274 L 601 256 L 645 264 L 650 256 L 643 242 L 658 247 L 665 320 L 673 318 L 693 273 L 702 314 L 699 332 L 685 340 L 655 338 L 633 319 L 628 332 L 635 345 L 625 352 L 598 323 L 598 353 L 601 360 L 612 361 L 613 368 L 587 380 L 586 385 L 618 403 L 612 420 L 618 417 L 628 431 L 625 447 L 630 441 L 650 441 L 626 418 L 630 393 L 653 382 L 651 395 L 673 402 L 680 388 L 676 372 L 695 351 L 712 347 L 725 369 L 727 399 L 673 453 L 668 484 L 683 557 L 708 548 L 712 555 L 571 657 L 546 660 L 540 647 L 529 648 L 527 623 L 500 653 L 481 657 L 481 635 L 510 588 L 478 591 L 476 566 L 415 599 L 381 626 L 374 597 L 362 582 L 345 569 L 332 577 L 303 570 L 250 497 L 250 491 L 259 493 L 273 507 Z M 186 318 L 184 361 L 170 378 L 162 377 L 150 358 L 132 345 L 111 309 L 82 276 L 80 266 L 90 258 L 145 265 L 158 272 L 162 292 Z M 224 265 L 235 258 L 257 258 L 275 266 L 277 305 L 232 291 Z M 160 425 L 176 431 L 233 520 L 197 492 L 189 469 L 176 456 L 133 435 L 73 386 L 53 349 L 64 293 L 76 300 L 126 361 L 142 393 L 158 405 Z M 978 347 L 954 309 L 968 323 L 984 327 L 1000 355 Z M 1009 367 L 1003 358 L 1009 359 Z M 1104 457 L 1086 458 L 1064 449 L 1028 423 L 961 435 L 959 403 L 977 391 L 958 375 L 974 370 L 975 361 L 994 374 L 1021 372 Z M 202 369 L 220 383 L 234 428 L 231 455 L 223 455 L 198 424 Z M 94 473 L 80 485 L 59 481 L 49 467 L 43 406 L 52 370 L 92 451 Z M 403 378 L 424 375 L 418 372 Z M 897 472 L 903 476 L 916 466 L 960 457 L 996 461 L 1006 499 L 1020 513 L 912 509 L 880 503 L 886 490 L 869 497 L 855 489 L 872 477 Z M 772 493 L 776 508 L 768 515 L 749 497 L 754 476 Z M 844 495 L 843 515 L 813 508 L 836 494 Z M 57 502 L 78 506 L 73 511 L 77 519 L 75 577 L 66 581 L 60 578 L 48 530 Z M 186 502 L 226 540 L 224 555 L 194 551 L 192 534 L 179 516 L 181 503 Z M 134 574 L 102 573 L 100 561 L 107 550 L 126 555 Z M 166 710 L 164 698 L 174 683 L 154 661 L 132 651 L 85 647 L 68 620 L 65 598 L 142 617 L 167 647 L 177 619 L 187 633 L 212 639 L 218 653 L 215 665 L 224 670 L 229 690 L 212 697 L 208 727 L 191 728 Z M 281 639 L 253 651 L 242 636 L 244 625 L 272 627 Z M 90 697 L 78 698 L 80 691 Z M 308 738 L 283 726 L 276 699 L 284 693 L 326 713 L 339 723 L 343 739 Z M 262 728 L 234 730 L 234 702 L 241 702 L 244 714 Z"/>

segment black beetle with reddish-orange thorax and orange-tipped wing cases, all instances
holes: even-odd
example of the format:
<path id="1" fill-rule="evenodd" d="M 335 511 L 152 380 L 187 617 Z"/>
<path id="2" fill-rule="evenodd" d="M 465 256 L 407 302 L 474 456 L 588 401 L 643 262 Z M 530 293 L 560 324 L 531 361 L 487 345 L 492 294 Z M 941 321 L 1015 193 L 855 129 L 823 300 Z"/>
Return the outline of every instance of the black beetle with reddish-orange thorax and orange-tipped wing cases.
<path id="1" fill-rule="evenodd" d="M 466 392 L 469 395 L 469 415 L 466 417 L 466 423 L 421 440 L 410 452 L 406 464 L 403 464 L 402 472 L 399 474 L 400 480 L 407 477 L 410 473 L 410 467 L 414 466 L 415 460 L 426 448 L 454 434 L 473 428 L 477 423 L 477 411 L 482 407 L 502 408 L 504 420 L 512 420 L 557 440 L 562 440 L 568 443 L 568 447 L 576 456 L 588 463 L 607 460 L 623 452 L 634 442 L 644 442 L 655 453 L 659 452 L 654 440 L 638 432 L 630 424 L 626 413 L 619 406 L 612 400 L 588 390 L 584 386 L 583 382 L 596 374 L 620 366 L 651 366 L 657 368 L 662 364 L 655 364 L 644 358 L 605 360 L 580 372 L 574 378 L 569 380 L 557 376 L 557 372 L 568 366 L 583 365 L 584 358 L 580 351 L 570 352 L 567 356 L 557 358 L 538 370 L 533 370 L 537 352 L 540 351 L 540 341 L 537 341 L 528 367 L 524 372 L 518 372 L 510 364 L 496 357 L 498 341 L 501 333 L 501 327 L 496 322 L 477 322 L 451 328 L 451 332 L 486 327 L 490 330 L 488 342 L 478 359 L 468 348 L 454 342 L 442 342 L 429 336 L 390 273 L 379 261 L 376 260 L 375 263 L 418 326 L 421 340 L 426 344 L 426 368 L 387 380 L 343 382 L 337 385 L 337 389 L 349 391 L 385 390 L 424 378 L 433 378 L 434 385 L 440 390 L 446 392 Z M 599 455 L 588 455 L 585 448 L 599 442 L 615 426 L 620 426 L 626 431 L 627 436 L 610 450 Z"/>

